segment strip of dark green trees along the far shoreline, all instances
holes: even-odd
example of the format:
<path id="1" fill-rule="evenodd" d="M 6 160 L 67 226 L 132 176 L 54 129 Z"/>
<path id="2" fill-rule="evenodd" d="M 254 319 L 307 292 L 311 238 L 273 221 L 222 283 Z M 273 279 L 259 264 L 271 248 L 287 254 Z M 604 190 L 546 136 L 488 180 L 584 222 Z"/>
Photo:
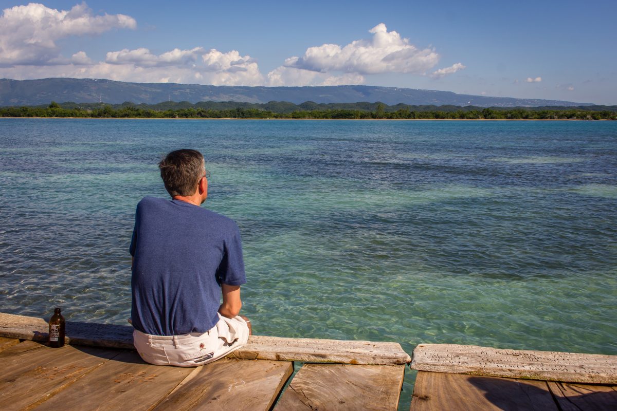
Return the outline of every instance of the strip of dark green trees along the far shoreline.
<path id="1" fill-rule="evenodd" d="M 455 105 L 386 105 L 380 102 L 317 104 L 271 101 L 162 102 L 154 105 L 51 102 L 43 106 L 0 107 L 2 117 L 85 118 L 314 118 L 314 119 L 444 119 L 444 120 L 617 120 L 617 106 L 475 107 Z"/>

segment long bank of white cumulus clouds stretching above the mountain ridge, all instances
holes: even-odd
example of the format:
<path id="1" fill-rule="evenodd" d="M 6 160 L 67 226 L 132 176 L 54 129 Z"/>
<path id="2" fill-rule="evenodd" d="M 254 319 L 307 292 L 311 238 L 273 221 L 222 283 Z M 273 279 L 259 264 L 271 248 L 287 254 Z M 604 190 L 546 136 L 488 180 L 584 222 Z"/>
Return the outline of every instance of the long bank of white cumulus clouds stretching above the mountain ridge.
<path id="1" fill-rule="evenodd" d="M 134 18 L 123 14 L 94 14 L 86 3 L 57 10 L 30 3 L 2 10 L 0 16 L 0 78 L 48 77 L 107 78 L 137 83 L 189 83 L 229 86 L 321 86 L 363 84 L 365 76 L 381 73 L 427 75 L 439 61 L 433 48 L 410 44 L 380 23 L 368 39 L 345 46 L 309 47 L 302 57 L 290 57 L 264 78 L 257 61 L 239 51 L 206 47 L 155 51 L 147 47 L 117 47 L 104 60 L 86 51 L 65 51 L 60 39 L 93 36 L 114 28 L 135 29 Z M 70 57 L 67 57 L 70 56 Z M 431 76 L 454 73 L 462 63 L 434 71 Z"/>

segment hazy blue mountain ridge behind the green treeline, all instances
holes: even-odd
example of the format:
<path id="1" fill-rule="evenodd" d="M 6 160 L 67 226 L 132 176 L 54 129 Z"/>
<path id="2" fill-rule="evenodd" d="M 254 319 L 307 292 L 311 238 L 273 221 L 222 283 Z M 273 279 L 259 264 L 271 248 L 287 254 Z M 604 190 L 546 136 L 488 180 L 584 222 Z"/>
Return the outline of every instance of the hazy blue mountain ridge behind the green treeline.
<path id="1" fill-rule="evenodd" d="M 378 86 L 249 87 L 176 83 L 124 83 L 107 79 L 0 79 L 0 105 L 40 105 L 56 102 L 157 104 L 166 100 L 301 104 L 383 102 L 387 105 L 474 105 L 476 107 L 573 107 L 590 103 L 515 99 L 456 94 L 451 91 Z"/>

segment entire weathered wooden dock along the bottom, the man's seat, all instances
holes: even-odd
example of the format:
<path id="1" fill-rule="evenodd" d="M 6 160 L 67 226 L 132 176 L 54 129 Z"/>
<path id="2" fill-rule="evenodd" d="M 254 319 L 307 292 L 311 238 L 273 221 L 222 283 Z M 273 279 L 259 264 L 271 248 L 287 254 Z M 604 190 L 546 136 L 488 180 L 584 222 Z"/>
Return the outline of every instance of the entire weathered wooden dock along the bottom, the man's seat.
<path id="1" fill-rule="evenodd" d="M 47 328 L 0 313 L 0 409 L 396 410 L 411 361 L 397 343 L 251 336 L 211 364 L 160 367 L 132 327 L 67 322 L 57 349 Z M 617 410 L 617 356 L 420 344 L 411 367 L 412 410 Z"/>

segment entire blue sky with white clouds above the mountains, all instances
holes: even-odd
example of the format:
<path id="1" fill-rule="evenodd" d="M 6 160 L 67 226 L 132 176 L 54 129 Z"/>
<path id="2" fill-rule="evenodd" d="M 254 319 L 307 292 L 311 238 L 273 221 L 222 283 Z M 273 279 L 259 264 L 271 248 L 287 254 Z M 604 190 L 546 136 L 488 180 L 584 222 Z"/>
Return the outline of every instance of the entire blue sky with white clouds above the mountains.
<path id="1" fill-rule="evenodd" d="M 0 0 L 0 77 L 617 104 L 616 1 Z"/>

